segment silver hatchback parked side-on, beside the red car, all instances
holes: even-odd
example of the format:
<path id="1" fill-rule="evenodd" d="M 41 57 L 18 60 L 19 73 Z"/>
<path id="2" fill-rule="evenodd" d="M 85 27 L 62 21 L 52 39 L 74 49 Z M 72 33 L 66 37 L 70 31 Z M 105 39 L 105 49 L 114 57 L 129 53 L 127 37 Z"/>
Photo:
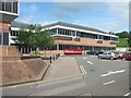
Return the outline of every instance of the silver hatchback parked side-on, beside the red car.
<path id="1" fill-rule="evenodd" d="M 115 52 L 105 52 L 103 54 L 98 54 L 98 59 L 118 59 L 118 56 Z"/>

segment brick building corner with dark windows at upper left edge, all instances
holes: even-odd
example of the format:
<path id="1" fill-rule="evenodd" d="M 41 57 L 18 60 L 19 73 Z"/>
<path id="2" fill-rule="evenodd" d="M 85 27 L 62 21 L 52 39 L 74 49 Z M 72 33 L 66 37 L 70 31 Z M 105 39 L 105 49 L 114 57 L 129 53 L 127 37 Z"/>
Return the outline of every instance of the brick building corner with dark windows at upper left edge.
<path id="1" fill-rule="evenodd" d="M 19 0 L 0 0 L 0 45 L 9 46 L 11 22 L 19 16 Z"/>

